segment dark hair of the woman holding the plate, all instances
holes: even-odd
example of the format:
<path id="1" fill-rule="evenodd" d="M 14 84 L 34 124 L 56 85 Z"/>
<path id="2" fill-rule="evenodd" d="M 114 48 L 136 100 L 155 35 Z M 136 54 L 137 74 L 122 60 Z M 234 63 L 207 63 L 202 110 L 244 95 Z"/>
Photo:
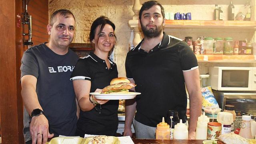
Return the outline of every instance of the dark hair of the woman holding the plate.
<path id="1" fill-rule="evenodd" d="M 90 36 L 89 36 L 89 40 L 90 40 L 91 44 L 92 44 L 92 40 L 94 39 L 95 34 L 97 34 L 97 35 L 100 34 L 106 24 L 109 24 L 110 26 L 112 26 L 113 30 L 115 31 L 115 29 L 116 29 L 115 24 L 113 22 L 111 22 L 106 16 L 100 16 L 100 17 L 96 18 L 96 20 L 94 20 L 94 22 L 92 22 Z M 99 25 L 100 25 L 100 29 L 98 32 L 96 32 L 96 28 Z M 115 35 L 115 38 L 116 38 L 116 35 Z M 96 42 L 98 42 L 98 40 L 96 40 Z M 94 47 L 94 44 L 92 44 L 92 46 Z"/>

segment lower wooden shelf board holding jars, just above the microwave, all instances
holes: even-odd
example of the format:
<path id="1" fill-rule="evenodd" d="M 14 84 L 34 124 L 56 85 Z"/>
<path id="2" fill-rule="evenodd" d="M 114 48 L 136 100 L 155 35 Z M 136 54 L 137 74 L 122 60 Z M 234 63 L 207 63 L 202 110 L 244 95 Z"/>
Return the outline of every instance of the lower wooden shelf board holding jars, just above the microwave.
<path id="1" fill-rule="evenodd" d="M 196 55 L 198 62 L 232 62 L 232 63 L 252 63 L 256 62 L 254 55 Z"/>

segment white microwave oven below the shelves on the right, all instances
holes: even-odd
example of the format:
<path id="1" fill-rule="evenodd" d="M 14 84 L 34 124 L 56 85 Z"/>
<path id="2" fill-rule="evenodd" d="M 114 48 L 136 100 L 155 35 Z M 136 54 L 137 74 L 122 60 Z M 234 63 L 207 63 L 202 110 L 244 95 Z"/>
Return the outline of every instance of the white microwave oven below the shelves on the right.
<path id="1" fill-rule="evenodd" d="M 210 67 L 209 82 L 214 90 L 256 91 L 255 67 Z"/>

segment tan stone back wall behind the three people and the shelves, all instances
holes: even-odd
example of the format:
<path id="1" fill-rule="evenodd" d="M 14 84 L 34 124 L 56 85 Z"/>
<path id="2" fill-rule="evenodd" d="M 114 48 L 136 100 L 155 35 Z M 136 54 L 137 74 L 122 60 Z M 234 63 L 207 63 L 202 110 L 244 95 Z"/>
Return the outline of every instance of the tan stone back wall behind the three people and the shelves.
<path id="1" fill-rule="evenodd" d="M 146 0 L 140 0 L 140 3 Z M 244 5 L 246 0 L 232 0 L 235 5 L 235 13 L 239 11 L 240 6 Z M 192 13 L 192 20 L 212 20 L 215 4 L 222 7 L 224 20 L 227 20 L 227 8 L 230 0 L 159 0 L 166 12 Z M 132 19 L 134 12 L 132 6 L 134 0 L 49 0 L 50 14 L 60 8 L 71 10 L 76 17 L 76 36 L 73 42 L 86 43 L 90 25 L 101 15 L 107 16 L 116 25 L 117 43 L 114 50 L 114 61 L 118 66 L 119 76 L 126 76 L 125 58 L 128 52 L 128 42 L 130 37 L 130 27 L 128 21 Z M 252 17 L 254 9 L 252 9 Z M 253 40 L 254 31 L 235 30 L 235 29 L 165 29 L 168 34 L 184 39 L 185 36 L 192 36 L 194 40 L 198 36 L 227 37 L 231 36 L 235 40 Z M 208 66 L 229 66 L 223 63 L 201 63 L 200 73 L 208 72 Z M 234 66 L 251 66 L 251 64 L 232 64 Z"/>

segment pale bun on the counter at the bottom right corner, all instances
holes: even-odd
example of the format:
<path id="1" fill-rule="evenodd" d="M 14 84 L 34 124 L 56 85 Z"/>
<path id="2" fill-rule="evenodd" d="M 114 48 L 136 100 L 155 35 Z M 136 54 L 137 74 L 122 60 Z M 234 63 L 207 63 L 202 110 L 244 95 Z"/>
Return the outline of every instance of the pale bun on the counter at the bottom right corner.
<path id="1" fill-rule="evenodd" d="M 238 134 L 222 134 L 218 137 L 217 144 L 249 144 L 249 142 Z"/>

